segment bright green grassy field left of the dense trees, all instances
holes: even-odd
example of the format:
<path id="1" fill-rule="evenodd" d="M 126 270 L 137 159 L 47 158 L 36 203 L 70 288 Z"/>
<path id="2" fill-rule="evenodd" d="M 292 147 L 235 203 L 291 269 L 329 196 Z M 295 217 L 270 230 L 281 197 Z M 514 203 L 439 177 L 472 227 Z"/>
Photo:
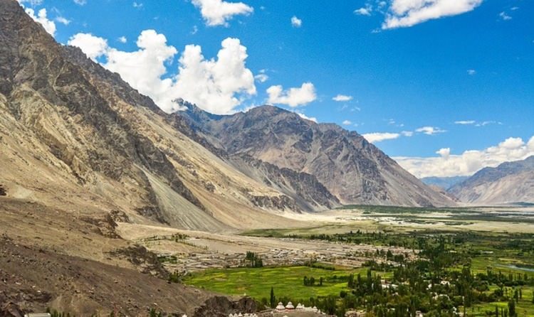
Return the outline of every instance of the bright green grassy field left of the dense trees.
<path id="1" fill-rule="evenodd" d="M 184 279 L 184 284 L 209 289 L 222 294 L 244 294 L 261 300 L 268 299 L 273 287 L 277 296 L 294 299 L 328 296 L 347 291 L 346 279 L 339 279 L 350 273 L 365 274 L 367 268 L 354 270 L 328 270 L 313 267 L 262 267 L 239 269 L 209 269 L 194 273 Z M 389 274 L 383 274 L 388 276 Z M 304 276 L 313 276 L 316 281 L 323 277 L 323 286 L 304 286 Z M 335 279 L 334 277 L 337 277 Z"/>

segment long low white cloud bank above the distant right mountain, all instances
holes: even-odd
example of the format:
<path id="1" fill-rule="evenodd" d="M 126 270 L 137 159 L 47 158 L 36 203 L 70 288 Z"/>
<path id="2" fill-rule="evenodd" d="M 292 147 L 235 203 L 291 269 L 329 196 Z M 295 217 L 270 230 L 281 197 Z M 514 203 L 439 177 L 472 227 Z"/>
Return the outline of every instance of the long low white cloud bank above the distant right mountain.
<path id="1" fill-rule="evenodd" d="M 429 176 L 470 176 L 481 168 L 495 167 L 507 161 L 518 161 L 534 155 L 534 136 L 525 143 L 521 138 L 508 138 L 483 150 L 469 150 L 459 155 L 440 149 L 438 157 L 394 157 L 403 168 L 419 178 Z"/>

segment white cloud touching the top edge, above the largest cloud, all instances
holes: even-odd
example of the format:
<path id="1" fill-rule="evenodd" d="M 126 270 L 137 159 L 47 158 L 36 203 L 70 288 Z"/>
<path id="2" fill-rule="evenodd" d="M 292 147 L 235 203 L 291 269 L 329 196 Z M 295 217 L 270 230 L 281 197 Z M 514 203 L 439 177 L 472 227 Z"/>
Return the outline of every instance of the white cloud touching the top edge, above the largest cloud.
<path id="1" fill-rule="evenodd" d="M 254 9 L 243 2 L 226 2 L 222 0 L 192 0 L 200 8 L 200 14 L 208 26 L 226 26 L 228 21 L 238 14 L 251 14 Z"/>

